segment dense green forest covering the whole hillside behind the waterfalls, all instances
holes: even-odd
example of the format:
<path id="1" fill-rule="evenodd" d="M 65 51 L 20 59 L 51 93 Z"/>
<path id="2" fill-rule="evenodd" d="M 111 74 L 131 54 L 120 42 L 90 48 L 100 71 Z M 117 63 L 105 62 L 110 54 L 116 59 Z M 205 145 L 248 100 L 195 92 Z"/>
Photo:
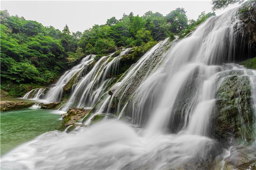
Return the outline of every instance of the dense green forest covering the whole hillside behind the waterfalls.
<path id="1" fill-rule="evenodd" d="M 212 13 L 201 15 L 196 21 L 188 20 L 184 8 L 166 16 L 152 11 L 134 16 L 131 12 L 120 20 L 112 17 L 106 24 L 94 25 L 84 33 L 71 33 L 67 25 L 60 31 L 1 11 L 1 89 L 9 91 L 15 84 L 48 85 L 88 54 L 100 57 L 118 48 L 143 48 L 167 37 L 173 39 L 209 16 Z"/>

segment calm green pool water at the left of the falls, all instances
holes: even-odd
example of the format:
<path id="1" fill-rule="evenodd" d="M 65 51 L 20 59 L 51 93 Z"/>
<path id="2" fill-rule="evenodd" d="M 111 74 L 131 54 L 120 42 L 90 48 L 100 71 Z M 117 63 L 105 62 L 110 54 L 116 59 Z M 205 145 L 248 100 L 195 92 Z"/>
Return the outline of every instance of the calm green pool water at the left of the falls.
<path id="1" fill-rule="evenodd" d="M 47 109 L 19 109 L 1 112 L 1 156 L 39 134 L 55 130 L 60 115 Z"/>

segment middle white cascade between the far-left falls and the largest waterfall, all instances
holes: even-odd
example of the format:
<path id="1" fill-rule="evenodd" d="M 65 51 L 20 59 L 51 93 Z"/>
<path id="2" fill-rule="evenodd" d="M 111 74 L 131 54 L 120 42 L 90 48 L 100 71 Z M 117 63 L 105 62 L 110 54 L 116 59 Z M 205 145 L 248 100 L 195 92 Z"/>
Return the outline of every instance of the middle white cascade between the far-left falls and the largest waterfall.
<path id="1" fill-rule="evenodd" d="M 117 74 L 119 61 L 121 57 L 128 53 L 130 48 L 125 49 L 116 57 L 109 56 L 101 57 L 74 89 L 68 103 L 62 109 L 67 111 L 70 107 L 93 107 L 98 101 L 105 86 L 111 81 L 111 78 Z M 108 74 L 112 74 L 108 76 Z"/>

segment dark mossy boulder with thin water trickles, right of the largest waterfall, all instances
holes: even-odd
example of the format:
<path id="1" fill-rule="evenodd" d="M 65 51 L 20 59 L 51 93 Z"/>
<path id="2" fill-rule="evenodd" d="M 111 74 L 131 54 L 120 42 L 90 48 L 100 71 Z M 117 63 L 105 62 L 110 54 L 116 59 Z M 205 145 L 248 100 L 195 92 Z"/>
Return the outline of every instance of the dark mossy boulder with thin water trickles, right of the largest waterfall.
<path id="1" fill-rule="evenodd" d="M 250 81 L 246 76 L 227 77 L 218 89 L 211 133 L 223 147 L 250 143 L 254 139 L 250 94 Z"/>

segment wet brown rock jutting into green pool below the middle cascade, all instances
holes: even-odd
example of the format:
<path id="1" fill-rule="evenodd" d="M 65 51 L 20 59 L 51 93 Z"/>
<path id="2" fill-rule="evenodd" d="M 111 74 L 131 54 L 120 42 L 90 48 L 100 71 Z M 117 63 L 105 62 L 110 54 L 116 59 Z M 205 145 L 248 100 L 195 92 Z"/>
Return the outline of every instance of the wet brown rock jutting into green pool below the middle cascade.
<path id="1" fill-rule="evenodd" d="M 83 109 L 83 108 L 68 109 L 67 113 L 62 114 L 64 127 L 68 127 L 69 125 L 75 124 L 84 116 L 88 115 L 90 111 L 91 109 Z"/>

